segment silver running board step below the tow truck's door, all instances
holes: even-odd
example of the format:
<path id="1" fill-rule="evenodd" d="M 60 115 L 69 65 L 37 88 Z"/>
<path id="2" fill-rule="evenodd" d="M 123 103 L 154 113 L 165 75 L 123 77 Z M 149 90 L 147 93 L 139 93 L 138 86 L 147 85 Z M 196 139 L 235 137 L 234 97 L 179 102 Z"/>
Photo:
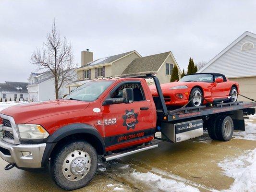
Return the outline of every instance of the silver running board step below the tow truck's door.
<path id="1" fill-rule="evenodd" d="M 120 153 L 112 154 L 112 155 L 109 155 L 109 156 L 104 156 L 104 157 L 102 157 L 102 160 L 103 161 L 110 161 L 110 160 L 113 160 L 113 159 L 116 159 L 116 158 L 120 158 L 120 157 L 123 157 L 123 156 L 129 156 L 129 155 L 132 155 L 134 153 L 139 153 L 139 152 L 146 151 L 148 149 L 153 149 L 153 148 L 156 148 L 156 147 L 158 147 L 158 144 L 149 144 L 149 145 L 142 146 L 142 147 L 136 147 L 134 149 L 130 149 L 130 150 L 127 150 L 127 151 L 122 151 Z"/>

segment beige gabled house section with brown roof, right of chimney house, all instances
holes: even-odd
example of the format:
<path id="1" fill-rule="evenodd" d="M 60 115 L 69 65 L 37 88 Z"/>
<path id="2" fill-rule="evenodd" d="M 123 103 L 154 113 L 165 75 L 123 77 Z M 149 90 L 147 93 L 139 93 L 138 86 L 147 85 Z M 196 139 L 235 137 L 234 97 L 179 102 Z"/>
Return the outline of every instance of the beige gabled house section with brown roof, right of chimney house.
<path id="1" fill-rule="evenodd" d="M 182 71 L 171 51 L 168 51 L 134 59 L 122 74 L 129 75 L 134 73 L 155 72 L 160 84 L 165 84 L 170 82 L 172 69 L 175 65 L 178 68 L 180 78 Z"/>

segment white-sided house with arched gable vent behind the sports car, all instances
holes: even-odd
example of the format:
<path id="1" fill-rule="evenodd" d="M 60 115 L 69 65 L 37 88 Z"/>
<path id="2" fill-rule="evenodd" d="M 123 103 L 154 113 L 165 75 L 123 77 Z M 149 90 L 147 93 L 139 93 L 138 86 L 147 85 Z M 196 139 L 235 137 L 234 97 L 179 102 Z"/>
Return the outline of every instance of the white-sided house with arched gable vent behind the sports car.
<path id="1" fill-rule="evenodd" d="M 256 34 L 244 32 L 198 72 L 219 72 L 240 84 L 240 94 L 256 100 Z M 247 101 L 242 96 L 239 100 Z"/>

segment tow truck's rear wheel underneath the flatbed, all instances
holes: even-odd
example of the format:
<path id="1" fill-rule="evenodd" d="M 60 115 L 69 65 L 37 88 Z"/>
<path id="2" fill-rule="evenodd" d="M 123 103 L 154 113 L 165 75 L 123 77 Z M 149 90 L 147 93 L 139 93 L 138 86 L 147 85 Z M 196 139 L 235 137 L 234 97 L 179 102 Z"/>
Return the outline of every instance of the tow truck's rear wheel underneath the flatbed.
<path id="1" fill-rule="evenodd" d="M 234 124 L 230 116 L 223 115 L 223 116 L 220 116 L 220 118 L 216 119 L 215 134 L 218 140 L 220 141 L 231 140 L 233 136 L 233 131 L 234 131 Z"/>

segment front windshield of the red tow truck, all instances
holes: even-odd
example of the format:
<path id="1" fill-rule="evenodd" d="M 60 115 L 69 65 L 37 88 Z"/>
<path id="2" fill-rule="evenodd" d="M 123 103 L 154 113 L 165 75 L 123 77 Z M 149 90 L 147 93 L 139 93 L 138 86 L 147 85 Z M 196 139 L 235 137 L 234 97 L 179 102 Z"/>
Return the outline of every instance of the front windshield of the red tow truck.
<path id="1" fill-rule="evenodd" d="M 79 100 L 79 101 L 94 101 L 96 100 L 113 81 L 91 81 L 81 85 L 71 92 L 64 99 Z"/>

